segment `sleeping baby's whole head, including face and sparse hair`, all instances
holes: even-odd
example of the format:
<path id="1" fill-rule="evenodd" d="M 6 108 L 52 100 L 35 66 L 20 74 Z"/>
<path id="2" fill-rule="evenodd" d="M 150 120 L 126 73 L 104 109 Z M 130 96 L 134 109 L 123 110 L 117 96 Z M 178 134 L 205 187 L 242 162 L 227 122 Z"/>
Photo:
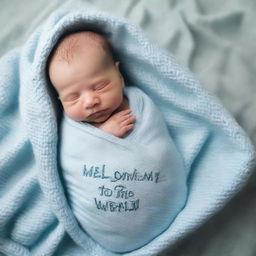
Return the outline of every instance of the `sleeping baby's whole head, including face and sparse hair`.
<path id="1" fill-rule="evenodd" d="M 95 32 L 64 37 L 51 54 L 48 72 L 65 113 L 73 120 L 102 123 L 124 100 L 119 62 L 106 38 Z"/>

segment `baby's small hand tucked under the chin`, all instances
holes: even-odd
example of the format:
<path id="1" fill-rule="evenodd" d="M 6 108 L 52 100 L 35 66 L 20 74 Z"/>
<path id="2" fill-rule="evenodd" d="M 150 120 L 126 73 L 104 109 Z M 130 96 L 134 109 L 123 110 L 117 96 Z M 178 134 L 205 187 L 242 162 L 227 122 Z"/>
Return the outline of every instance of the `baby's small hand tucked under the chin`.
<path id="1" fill-rule="evenodd" d="M 131 110 L 126 109 L 112 115 L 99 128 L 119 138 L 129 132 L 134 127 L 136 117 L 130 115 Z"/>

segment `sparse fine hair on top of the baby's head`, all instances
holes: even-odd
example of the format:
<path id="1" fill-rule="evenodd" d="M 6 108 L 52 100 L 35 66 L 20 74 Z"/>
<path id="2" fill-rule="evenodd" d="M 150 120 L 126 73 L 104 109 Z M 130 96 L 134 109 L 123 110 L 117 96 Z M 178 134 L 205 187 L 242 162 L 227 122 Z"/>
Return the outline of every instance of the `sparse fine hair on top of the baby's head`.
<path id="1" fill-rule="evenodd" d="M 79 48 L 81 43 L 85 42 L 91 46 L 101 47 L 106 55 L 114 61 L 113 51 L 108 40 L 103 35 L 93 31 L 75 32 L 61 38 L 54 47 L 49 61 L 56 57 L 58 60 L 69 63 L 72 60 L 74 51 Z"/>

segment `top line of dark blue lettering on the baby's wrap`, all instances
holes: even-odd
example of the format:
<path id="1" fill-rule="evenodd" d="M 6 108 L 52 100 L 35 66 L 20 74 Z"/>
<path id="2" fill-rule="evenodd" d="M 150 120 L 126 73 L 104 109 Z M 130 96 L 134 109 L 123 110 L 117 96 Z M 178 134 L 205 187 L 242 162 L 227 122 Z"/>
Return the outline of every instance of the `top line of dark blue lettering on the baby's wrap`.
<path id="1" fill-rule="evenodd" d="M 127 171 L 115 171 L 114 177 L 105 176 L 105 167 L 103 164 L 101 167 L 99 166 L 90 166 L 89 168 L 84 165 L 83 168 L 83 176 L 90 178 L 98 178 L 98 179 L 110 179 L 111 182 L 117 181 L 152 181 L 157 183 L 159 180 L 160 172 L 147 172 L 144 171 L 142 173 L 138 172 L 136 168 L 134 168 L 133 172 Z"/>

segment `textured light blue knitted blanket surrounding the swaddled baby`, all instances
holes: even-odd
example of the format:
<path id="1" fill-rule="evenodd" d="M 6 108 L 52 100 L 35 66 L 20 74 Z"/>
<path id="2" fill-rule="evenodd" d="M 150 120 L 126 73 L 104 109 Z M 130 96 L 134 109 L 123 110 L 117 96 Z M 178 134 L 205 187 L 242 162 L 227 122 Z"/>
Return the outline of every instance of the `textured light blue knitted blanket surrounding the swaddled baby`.
<path id="1" fill-rule="evenodd" d="M 46 64 L 67 32 L 108 36 L 129 84 L 165 119 L 187 171 L 187 200 L 171 225 L 123 255 L 157 255 L 216 213 L 248 179 L 254 149 L 218 100 L 167 52 L 125 20 L 87 10 L 54 13 L 0 60 L 0 252 L 6 255 L 119 255 L 81 228 L 58 166 L 58 123 Z M 86 143 L 86 142 L 84 142 Z"/>

